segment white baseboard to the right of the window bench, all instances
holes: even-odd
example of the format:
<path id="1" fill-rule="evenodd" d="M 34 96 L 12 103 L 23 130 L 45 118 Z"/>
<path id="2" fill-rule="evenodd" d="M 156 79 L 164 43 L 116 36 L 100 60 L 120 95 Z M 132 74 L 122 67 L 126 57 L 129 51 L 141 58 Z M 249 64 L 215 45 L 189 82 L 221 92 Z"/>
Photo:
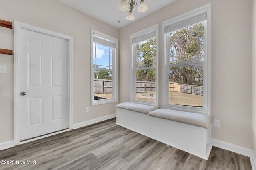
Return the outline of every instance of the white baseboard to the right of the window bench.
<path id="1" fill-rule="evenodd" d="M 219 141 L 217 139 L 212 139 L 212 145 L 215 147 L 218 147 L 218 148 L 222 148 L 225 150 L 229 150 L 231 152 L 235 152 L 235 153 L 250 157 L 250 161 L 252 164 L 252 170 L 256 170 L 256 160 L 255 160 L 255 156 L 251 149 L 241 147 L 239 145 L 234 145 L 232 143 Z"/>

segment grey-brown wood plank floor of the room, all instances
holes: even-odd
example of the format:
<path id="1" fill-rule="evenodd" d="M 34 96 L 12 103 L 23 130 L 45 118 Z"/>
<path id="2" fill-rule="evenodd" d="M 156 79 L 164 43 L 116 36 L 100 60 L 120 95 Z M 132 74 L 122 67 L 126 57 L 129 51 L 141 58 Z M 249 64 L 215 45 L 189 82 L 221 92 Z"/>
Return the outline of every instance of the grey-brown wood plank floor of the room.
<path id="1" fill-rule="evenodd" d="M 110 119 L 2 150 L 0 160 L 9 165 L 0 169 L 252 170 L 246 156 L 213 147 L 206 161 L 115 123 Z"/>

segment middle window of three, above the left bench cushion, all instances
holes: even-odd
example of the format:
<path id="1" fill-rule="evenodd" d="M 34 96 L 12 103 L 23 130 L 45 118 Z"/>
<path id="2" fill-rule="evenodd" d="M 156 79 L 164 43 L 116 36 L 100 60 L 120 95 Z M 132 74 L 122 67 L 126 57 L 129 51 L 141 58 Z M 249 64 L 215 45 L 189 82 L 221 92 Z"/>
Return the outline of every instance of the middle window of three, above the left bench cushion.
<path id="1" fill-rule="evenodd" d="M 158 25 L 130 36 L 131 97 L 133 102 L 157 106 L 157 32 Z"/>

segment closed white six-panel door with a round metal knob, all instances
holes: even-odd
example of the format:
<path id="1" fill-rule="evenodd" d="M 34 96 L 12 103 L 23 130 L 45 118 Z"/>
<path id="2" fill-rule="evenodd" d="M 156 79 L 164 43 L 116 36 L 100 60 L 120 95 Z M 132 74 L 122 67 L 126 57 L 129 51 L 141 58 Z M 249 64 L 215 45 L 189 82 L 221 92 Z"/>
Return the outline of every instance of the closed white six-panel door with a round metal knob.
<path id="1" fill-rule="evenodd" d="M 68 128 L 68 40 L 20 29 L 20 141 Z"/>

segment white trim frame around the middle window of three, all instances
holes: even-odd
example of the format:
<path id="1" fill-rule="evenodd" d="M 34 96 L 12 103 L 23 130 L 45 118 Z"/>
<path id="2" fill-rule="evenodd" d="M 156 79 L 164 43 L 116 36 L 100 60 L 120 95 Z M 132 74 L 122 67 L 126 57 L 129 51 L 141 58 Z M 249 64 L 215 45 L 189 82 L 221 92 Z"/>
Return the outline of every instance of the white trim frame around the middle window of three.
<path id="1" fill-rule="evenodd" d="M 133 53 L 134 53 L 134 49 L 133 49 L 133 45 L 132 45 L 132 39 L 145 35 L 147 33 L 150 33 L 152 31 L 156 31 L 156 102 L 147 102 L 147 101 L 142 101 L 142 100 L 136 100 L 136 93 L 135 93 L 135 81 L 136 81 L 136 77 L 135 77 L 135 60 L 133 57 Z M 130 102 L 134 102 L 134 103 L 139 103 L 139 104 L 146 104 L 146 105 L 150 105 L 150 106 L 156 106 L 158 107 L 158 97 L 159 97 L 159 86 L 158 86 L 158 67 L 159 67 L 159 58 L 158 58 L 158 51 L 159 51 L 159 43 L 158 43 L 158 24 L 153 25 L 151 27 L 148 27 L 146 29 L 143 29 L 141 31 L 138 31 L 137 33 L 131 34 L 130 35 Z M 150 68 L 150 67 L 148 67 Z"/>

